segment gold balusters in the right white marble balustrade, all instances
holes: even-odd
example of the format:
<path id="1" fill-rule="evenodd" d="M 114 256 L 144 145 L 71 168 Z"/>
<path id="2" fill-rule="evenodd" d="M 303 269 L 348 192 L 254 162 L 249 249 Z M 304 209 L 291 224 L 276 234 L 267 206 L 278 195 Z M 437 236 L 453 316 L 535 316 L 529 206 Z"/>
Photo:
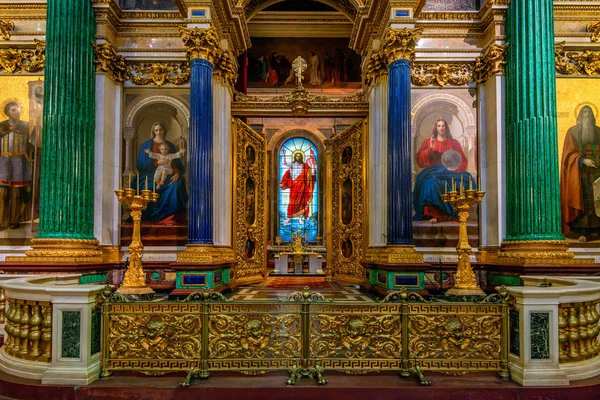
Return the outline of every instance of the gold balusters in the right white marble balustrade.
<path id="1" fill-rule="evenodd" d="M 573 363 L 600 355 L 600 300 L 561 304 L 558 340 L 561 363 Z"/>

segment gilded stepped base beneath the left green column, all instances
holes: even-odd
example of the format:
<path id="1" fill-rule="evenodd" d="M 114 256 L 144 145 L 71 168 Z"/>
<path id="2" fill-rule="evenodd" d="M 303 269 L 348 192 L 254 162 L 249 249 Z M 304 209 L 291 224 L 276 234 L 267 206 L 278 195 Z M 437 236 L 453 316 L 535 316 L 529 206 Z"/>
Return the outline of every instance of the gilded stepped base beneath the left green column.
<path id="1" fill-rule="evenodd" d="M 15 263 L 98 263 L 102 251 L 97 240 L 86 239 L 31 239 L 32 250 L 25 257 L 6 257 Z"/>

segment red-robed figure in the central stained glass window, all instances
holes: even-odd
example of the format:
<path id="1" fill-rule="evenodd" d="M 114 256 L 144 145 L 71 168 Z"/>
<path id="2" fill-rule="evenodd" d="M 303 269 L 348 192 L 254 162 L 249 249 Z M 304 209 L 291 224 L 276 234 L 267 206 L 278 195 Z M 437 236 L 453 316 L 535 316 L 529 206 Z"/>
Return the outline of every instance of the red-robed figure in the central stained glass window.
<path id="1" fill-rule="evenodd" d="M 290 202 L 285 223 L 289 222 L 291 218 L 300 218 L 301 221 L 308 219 L 316 182 L 315 153 L 310 149 L 310 156 L 304 162 L 304 153 L 296 151 L 293 153 L 291 164 L 288 164 L 284 157 L 284 165 L 289 168 L 285 171 L 280 185 L 282 189 L 290 190 Z"/>

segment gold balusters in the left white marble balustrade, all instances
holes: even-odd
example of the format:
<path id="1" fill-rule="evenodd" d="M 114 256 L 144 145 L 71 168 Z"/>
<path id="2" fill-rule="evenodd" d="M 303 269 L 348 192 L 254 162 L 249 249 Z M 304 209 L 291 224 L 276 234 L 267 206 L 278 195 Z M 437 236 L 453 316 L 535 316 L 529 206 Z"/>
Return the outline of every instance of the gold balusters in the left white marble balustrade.
<path id="1" fill-rule="evenodd" d="M 52 355 L 52 305 L 8 298 L 4 351 L 17 358 L 44 361 Z"/>

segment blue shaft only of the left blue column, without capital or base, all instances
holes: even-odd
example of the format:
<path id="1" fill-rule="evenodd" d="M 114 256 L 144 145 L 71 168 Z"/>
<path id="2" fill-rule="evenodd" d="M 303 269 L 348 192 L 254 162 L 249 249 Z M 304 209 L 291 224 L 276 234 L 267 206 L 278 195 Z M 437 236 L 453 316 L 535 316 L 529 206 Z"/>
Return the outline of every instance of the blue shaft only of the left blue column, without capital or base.
<path id="1" fill-rule="evenodd" d="M 212 244 L 213 65 L 190 61 L 188 244 Z"/>

